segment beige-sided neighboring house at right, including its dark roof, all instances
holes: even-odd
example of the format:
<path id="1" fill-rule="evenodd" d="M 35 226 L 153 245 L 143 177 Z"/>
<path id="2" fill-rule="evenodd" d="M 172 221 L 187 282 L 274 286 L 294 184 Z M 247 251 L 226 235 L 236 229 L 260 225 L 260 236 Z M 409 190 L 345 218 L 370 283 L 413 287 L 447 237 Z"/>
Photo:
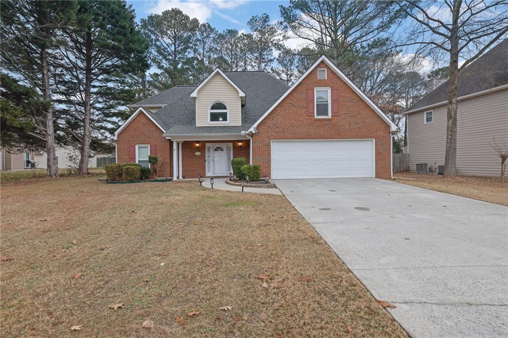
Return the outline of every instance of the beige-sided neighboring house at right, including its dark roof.
<path id="1" fill-rule="evenodd" d="M 410 170 L 444 165 L 447 95 L 448 81 L 405 112 Z M 458 174 L 498 176 L 501 160 L 491 144 L 508 142 L 508 40 L 464 69 L 458 100 Z"/>

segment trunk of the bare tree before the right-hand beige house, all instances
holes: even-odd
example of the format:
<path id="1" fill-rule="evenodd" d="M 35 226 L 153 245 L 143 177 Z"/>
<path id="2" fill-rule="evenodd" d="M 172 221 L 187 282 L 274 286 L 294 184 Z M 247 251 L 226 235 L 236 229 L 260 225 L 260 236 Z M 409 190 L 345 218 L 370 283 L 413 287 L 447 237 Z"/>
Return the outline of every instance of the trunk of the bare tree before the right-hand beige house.
<path id="1" fill-rule="evenodd" d="M 462 1 L 455 0 L 450 35 L 450 79 L 448 80 L 447 135 L 444 177 L 457 176 L 457 88 L 459 85 L 459 15 Z"/>

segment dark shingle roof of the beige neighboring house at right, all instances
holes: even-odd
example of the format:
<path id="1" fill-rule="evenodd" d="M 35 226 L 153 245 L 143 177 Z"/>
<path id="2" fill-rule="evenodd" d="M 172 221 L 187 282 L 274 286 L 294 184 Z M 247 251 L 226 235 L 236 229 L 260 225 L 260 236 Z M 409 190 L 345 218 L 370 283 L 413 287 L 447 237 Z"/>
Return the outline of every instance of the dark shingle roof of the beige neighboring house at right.
<path id="1" fill-rule="evenodd" d="M 508 40 L 503 40 L 479 57 L 460 76 L 457 96 L 478 93 L 508 83 Z M 441 84 L 406 111 L 448 100 L 448 81 Z"/>

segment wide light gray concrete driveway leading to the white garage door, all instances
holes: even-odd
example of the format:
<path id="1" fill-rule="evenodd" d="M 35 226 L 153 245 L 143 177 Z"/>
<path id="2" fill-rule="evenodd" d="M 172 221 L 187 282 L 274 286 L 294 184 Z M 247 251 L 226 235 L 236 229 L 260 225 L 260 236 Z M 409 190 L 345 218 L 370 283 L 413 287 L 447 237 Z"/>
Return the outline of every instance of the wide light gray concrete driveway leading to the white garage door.
<path id="1" fill-rule="evenodd" d="M 508 207 L 372 178 L 276 183 L 412 337 L 508 336 Z"/>

